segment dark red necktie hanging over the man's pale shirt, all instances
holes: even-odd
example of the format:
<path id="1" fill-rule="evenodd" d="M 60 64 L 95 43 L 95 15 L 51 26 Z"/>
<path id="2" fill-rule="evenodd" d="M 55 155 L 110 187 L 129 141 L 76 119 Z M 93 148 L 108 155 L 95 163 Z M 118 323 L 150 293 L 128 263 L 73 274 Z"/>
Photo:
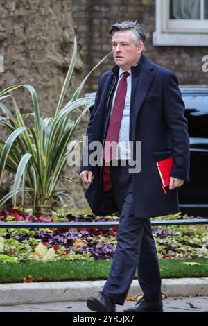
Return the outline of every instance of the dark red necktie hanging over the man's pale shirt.
<path id="1" fill-rule="evenodd" d="M 105 145 L 103 148 L 103 158 L 107 165 L 103 167 L 103 190 L 107 191 L 112 189 L 110 180 L 110 161 L 116 156 L 116 148 L 119 139 L 119 131 L 121 128 L 121 119 L 123 117 L 123 109 L 125 106 L 125 96 L 127 92 L 127 80 L 130 75 L 129 72 L 123 72 L 122 78 L 116 92 L 114 107 L 110 117 L 110 123 L 107 130 Z M 112 144 L 111 144 L 112 142 Z"/>

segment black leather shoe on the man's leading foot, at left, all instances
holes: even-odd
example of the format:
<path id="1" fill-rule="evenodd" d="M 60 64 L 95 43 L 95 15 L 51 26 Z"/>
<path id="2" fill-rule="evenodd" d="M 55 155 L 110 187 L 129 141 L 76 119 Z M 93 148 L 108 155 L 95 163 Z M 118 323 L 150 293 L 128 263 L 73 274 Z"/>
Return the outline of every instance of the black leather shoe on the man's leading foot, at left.
<path id="1" fill-rule="evenodd" d="M 87 307 L 96 312 L 115 312 L 116 304 L 109 296 L 102 291 L 99 292 L 98 298 L 89 297 L 87 299 Z"/>

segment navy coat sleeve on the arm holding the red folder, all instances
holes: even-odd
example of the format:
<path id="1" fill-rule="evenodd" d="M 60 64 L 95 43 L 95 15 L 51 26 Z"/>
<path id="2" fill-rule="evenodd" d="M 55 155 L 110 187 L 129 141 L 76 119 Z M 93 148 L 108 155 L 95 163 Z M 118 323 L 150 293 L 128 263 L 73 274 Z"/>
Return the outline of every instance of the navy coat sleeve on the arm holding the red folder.
<path id="1" fill-rule="evenodd" d="M 178 80 L 171 71 L 164 85 L 164 117 L 168 126 L 173 155 L 171 176 L 189 182 L 189 134 Z"/>

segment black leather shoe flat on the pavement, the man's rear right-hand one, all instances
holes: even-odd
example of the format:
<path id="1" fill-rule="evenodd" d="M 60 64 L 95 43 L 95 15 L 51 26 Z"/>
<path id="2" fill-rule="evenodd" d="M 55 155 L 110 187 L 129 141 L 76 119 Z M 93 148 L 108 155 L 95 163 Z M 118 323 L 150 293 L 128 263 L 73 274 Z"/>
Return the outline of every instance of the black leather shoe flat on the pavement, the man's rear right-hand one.
<path id="1" fill-rule="evenodd" d="M 125 309 L 124 312 L 163 312 L 162 300 L 146 301 L 143 296 L 134 307 Z"/>

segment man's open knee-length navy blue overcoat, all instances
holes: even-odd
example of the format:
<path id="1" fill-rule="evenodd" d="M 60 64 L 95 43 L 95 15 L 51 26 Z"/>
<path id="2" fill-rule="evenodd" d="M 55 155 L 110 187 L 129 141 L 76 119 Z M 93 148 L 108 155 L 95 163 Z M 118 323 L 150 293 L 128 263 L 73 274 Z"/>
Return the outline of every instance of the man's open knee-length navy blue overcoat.
<path id="1" fill-rule="evenodd" d="M 179 212 L 177 189 L 166 187 L 164 194 L 156 162 L 172 156 L 171 176 L 190 181 L 189 134 L 184 102 L 173 71 L 155 65 L 143 54 L 139 61 L 142 65 L 131 67 L 130 141 L 141 141 L 141 171 L 132 173 L 133 202 L 136 217 L 151 218 Z M 118 75 L 119 67 L 115 66 L 99 80 L 87 126 L 88 144 L 105 141 Z M 90 155 L 92 151 L 85 146 L 84 153 Z M 83 164 L 82 158 L 80 173 L 83 170 L 94 173 L 94 182 L 85 191 L 92 212 L 98 216 L 117 212 L 113 190 L 103 192 L 102 164 Z"/>

